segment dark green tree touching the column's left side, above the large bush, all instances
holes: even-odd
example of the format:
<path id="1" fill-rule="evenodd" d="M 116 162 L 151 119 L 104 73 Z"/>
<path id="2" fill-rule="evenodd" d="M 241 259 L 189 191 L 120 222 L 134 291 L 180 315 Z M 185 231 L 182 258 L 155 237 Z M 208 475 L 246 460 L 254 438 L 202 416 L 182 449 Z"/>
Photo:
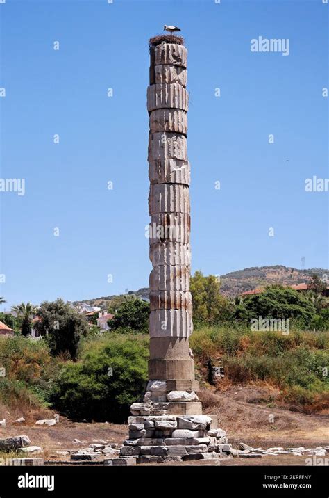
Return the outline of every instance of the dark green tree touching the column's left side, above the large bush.
<path id="1" fill-rule="evenodd" d="M 115 316 L 108 322 L 111 330 L 128 328 L 147 332 L 149 328 L 150 305 L 141 299 L 127 300 L 117 307 Z"/>

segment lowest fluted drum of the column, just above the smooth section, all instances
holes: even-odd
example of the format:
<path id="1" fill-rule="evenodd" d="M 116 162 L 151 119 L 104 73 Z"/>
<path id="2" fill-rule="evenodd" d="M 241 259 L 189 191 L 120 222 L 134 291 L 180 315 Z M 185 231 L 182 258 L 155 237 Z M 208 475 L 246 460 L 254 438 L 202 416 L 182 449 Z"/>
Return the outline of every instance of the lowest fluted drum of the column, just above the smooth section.
<path id="1" fill-rule="evenodd" d="M 192 331 L 192 316 L 187 310 L 154 310 L 150 313 L 150 337 L 189 337 Z M 168 401 L 198 400 L 168 399 Z"/>

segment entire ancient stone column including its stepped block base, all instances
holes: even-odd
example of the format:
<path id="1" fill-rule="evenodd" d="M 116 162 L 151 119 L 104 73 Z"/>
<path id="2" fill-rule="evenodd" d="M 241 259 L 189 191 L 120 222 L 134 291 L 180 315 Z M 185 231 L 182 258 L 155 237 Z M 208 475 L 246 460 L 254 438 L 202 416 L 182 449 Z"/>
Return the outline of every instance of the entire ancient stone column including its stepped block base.
<path id="1" fill-rule="evenodd" d="M 202 415 L 189 348 L 193 324 L 187 49 L 175 38 L 158 45 L 150 40 L 149 383 L 144 402 L 130 407 L 129 437 L 120 449 L 121 458 L 136 457 L 137 463 L 219 458 L 219 449 L 227 443 L 217 417 Z"/>

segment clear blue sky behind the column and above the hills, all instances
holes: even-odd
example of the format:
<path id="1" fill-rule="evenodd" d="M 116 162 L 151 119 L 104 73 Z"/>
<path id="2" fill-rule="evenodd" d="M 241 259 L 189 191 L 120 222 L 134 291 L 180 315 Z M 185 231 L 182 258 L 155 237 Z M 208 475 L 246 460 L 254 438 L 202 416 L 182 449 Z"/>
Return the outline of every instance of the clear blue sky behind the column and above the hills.
<path id="1" fill-rule="evenodd" d="M 328 177 L 328 8 L 0 4 L 0 177 L 26 179 L 25 195 L 0 193 L 6 309 L 148 285 L 148 40 L 164 24 L 181 27 L 189 51 L 192 271 L 300 268 L 302 257 L 306 268 L 326 268 L 328 193 L 305 192 L 305 179 Z M 251 52 L 258 36 L 288 38 L 289 56 Z"/>

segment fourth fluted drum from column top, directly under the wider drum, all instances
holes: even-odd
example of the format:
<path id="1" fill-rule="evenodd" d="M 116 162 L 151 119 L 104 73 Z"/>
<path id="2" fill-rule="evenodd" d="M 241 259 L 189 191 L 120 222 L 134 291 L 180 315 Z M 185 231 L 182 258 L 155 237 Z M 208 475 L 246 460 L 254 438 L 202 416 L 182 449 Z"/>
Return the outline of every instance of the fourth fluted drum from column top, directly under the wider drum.
<path id="1" fill-rule="evenodd" d="M 150 115 L 151 133 L 187 134 L 187 113 L 180 109 L 155 109 Z"/>

